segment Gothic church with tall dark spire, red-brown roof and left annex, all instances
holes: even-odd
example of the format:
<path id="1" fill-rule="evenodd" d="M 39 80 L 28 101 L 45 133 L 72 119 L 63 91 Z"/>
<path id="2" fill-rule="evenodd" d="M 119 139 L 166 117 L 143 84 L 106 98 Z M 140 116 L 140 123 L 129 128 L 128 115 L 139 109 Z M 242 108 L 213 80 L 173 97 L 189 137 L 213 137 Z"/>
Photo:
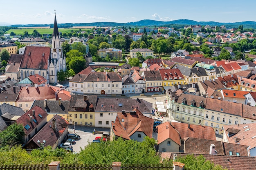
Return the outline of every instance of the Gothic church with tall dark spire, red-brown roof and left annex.
<path id="1" fill-rule="evenodd" d="M 12 54 L 7 63 L 6 77 L 22 81 L 28 76 L 39 74 L 47 83 L 56 84 L 57 72 L 65 72 L 66 69 L 55 13 L 52 46 L 26 46 L 23 54 Z"/>

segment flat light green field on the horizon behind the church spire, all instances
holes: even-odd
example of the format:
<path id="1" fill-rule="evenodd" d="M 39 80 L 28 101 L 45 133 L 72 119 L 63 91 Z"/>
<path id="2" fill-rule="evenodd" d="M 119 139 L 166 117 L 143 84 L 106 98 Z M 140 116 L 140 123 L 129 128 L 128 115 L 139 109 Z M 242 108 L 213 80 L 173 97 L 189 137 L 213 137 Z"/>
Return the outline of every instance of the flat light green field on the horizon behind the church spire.
<path id="1" fill-rule="evenodd" d="M 22 28 L 22 29 L 19 29 L 19 30 L 16 30 L 16 29 L 11 29 L 11 30 L 8 30 L 7 33 L 15 33 L 16 35 L 23 35 L 24 32 L 28 32 L 29 34 L 32 34 L 34 30 L 37 30 L 40 34 L 52 34 L 53 33 L 53 28 Z M 71 32 L 71 30 L 73 30 L 74 32 L 77 32 L 79 31 L 80 29 L 78 28 L 58 28 L 58 31 L 59 32 L 62 32 L 62 33 L 69 33 Z M 85 31 L 85 30 L 88 30 L 88 29 L 81 29 L 82 31 Z"/>

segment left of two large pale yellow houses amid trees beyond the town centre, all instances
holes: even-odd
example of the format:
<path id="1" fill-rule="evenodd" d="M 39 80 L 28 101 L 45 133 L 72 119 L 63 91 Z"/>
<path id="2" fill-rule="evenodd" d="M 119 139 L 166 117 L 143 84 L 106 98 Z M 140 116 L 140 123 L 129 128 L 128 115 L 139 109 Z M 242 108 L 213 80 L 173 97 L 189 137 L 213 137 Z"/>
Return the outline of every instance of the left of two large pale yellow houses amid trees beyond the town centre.
<path id="1" fill-rule="evenodd" d="M 107 56 L 111 59 L 113 58 L 121 58 L 122 57 L 122 50 L 117 48 L 101 48 L 97 51 L 97 54 L 101 58 L 106 58 Z"/>

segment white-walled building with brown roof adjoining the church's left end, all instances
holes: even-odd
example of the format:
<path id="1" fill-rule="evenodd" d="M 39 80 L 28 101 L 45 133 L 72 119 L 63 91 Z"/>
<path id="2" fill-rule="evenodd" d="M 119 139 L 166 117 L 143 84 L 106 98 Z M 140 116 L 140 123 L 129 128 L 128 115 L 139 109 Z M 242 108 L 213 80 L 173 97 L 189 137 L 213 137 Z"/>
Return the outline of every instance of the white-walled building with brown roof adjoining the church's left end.
<path id="1" fill-rule="evenodd" d="M 13 80 L 20 81 L 20 63 L 22 54 L 11 54 L 7 66 L 5 68 L 5 76 L 11 77 Z"/>

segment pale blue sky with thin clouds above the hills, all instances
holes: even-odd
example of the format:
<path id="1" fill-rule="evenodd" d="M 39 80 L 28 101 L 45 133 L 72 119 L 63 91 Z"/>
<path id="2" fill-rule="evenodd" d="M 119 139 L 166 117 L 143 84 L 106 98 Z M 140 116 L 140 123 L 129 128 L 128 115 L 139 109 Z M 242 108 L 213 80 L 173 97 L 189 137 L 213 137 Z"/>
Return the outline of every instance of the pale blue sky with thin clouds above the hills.
<path id="1" fill-rule="evenodd" d="M 136 22 L 140 20 L 256 21 L 255 0 L 1 0 L 0 25 Z"/>

